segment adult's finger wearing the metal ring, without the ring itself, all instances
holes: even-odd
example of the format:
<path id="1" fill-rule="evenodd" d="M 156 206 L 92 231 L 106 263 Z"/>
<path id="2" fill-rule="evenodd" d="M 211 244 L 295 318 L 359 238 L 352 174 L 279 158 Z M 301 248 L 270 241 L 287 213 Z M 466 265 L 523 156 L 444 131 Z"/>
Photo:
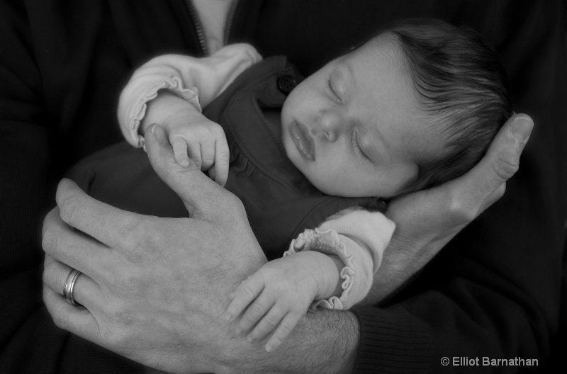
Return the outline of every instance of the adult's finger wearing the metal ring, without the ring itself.
<path id="1" fill-rule="evenodd" d="M 72 270 L 70 266 L 46 255 L 43 266 L 43 284 L 53 292 L 64 295 L 64 286 L 70 281 L 69 276 Z M 99 285 L 89 276 L 81 273 L 74 283 L 73 298 L 87 309 L 93 310 L 94 307 L 99 306 L 101 300 Z"/>

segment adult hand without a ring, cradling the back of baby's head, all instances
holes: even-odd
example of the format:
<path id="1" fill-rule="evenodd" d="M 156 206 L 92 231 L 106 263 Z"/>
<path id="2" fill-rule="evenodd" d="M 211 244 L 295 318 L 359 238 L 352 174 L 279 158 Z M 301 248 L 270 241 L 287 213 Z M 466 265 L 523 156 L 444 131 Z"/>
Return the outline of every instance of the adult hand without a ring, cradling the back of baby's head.
<path id="1" fill-rule="evenodd" d="M 398 290 L 461 229 L 504 195 L 506 181 L 518 170 L 533 126 L 528 115 L 514 115 L 471 171 L 441 186 L 391 201 L 386 216 L 395 222 L 395 232 L 365 303 L 374 304 Z"/>

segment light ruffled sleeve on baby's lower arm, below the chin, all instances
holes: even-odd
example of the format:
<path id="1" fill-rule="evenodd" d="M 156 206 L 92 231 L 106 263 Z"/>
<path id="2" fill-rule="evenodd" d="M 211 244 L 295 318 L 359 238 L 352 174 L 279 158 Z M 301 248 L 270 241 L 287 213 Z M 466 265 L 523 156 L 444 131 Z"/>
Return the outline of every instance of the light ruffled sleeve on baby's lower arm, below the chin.
<path id="1" fill-rule="evenodd" d="M 334 254 L 344 263 L 340 272 L 342 295 L 315 300 L 312 308 L 347 310 L 369 293 L 374 274 L 380 268 L 395 224 L 381 212 L 361 207 L 341 210 L 315 229 L 305 229 L 291 242 L 284 256 L 296 251 Z"/>

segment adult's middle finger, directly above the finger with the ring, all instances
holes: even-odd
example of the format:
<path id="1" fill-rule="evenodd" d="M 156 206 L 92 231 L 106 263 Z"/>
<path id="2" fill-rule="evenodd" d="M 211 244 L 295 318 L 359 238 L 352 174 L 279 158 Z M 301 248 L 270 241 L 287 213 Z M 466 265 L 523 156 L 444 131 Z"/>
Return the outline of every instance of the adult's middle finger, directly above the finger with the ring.
<path id="1" fill-rule="evenodd" d="M 60 209 L 57 207 L 45 216 L 42 239 L 45 253 L 96 278 L 105 276 L 105 272 L 112 271 L 115 264 L 111 259 L 110 249 L 95 239 L 74 231 L 62 220 L 61 216 Z M 80 218 L 79 220 L 89 219 Z M 82 226 L 82 222 L 78 226 Z M 88 232 L 88 229 L 84 230 Z"/>

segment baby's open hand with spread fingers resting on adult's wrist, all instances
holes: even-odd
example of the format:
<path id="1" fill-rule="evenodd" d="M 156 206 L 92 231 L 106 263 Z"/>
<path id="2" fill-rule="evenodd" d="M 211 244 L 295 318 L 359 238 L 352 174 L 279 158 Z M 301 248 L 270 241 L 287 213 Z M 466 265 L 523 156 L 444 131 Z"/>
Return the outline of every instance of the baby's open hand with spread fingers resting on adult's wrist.
<path id="1" fill-rule="evenodd" d="M 240 331 L 253 342 L 276 331 L 266 343 L 266 351 L 273 351 L 296 327 L 311 302 L 320 293 L 318 252 L 305 251 L 266 263 L 262 268 L 238 285 L 229 297 L 232 299 L 225 312 L 232 321 L 245 309 L 240 319 Z"/>

